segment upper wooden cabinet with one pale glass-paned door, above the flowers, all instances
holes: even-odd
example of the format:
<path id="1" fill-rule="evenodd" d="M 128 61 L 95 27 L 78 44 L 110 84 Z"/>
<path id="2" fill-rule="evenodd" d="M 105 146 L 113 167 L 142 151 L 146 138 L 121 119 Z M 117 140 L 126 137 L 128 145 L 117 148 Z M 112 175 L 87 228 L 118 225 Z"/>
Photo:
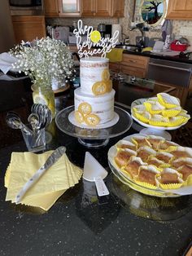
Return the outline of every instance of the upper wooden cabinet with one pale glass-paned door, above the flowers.
<path id="1" fill-rule="evenodd" d="M 76 17 L 81 15 L 80 0 L 44 0 L 46 17 Z"/>

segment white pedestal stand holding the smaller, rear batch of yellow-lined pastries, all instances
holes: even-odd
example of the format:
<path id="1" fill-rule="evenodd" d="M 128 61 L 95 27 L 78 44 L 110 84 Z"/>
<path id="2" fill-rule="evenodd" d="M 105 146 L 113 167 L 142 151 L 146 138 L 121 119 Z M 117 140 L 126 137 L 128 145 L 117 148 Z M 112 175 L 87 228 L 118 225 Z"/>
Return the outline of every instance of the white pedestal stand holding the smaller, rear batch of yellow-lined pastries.
<path id="1" fill-rule="evenodd" d="M 133 101 L 133 103 L 131 104 L 131 113 L 132 113 L 132 109 L 133 107 L 143 104 L 143 102 L 145 102 L 146 99 L 136 99 L 135 101 Z M 172 135 L 170 135 L 170 133 L 167 130 L 177 130 L 179 129 L 181 126 L 184 126 L 186 124 L 183 123 L 180 126 L 172 126 L 172 127 L 164 127 L 164 126 L 151 126 L 149 124 L 146 124 L 140 120 L 137 119 L 137 117 L 133 116 L 133 113 L 131 115 L 133 117 L 133 119 L 135 121 L 137 121 L 138 124 L 140 124 L 141 126 L 144 126 L 146 128 L 142 129 L 140 131 L 141 134 L 143 135 L 156 135 L 156 136 L 160 136 L 163 137 L 164 139 L 168 139 L 171 140 L 172 139 Z"/>

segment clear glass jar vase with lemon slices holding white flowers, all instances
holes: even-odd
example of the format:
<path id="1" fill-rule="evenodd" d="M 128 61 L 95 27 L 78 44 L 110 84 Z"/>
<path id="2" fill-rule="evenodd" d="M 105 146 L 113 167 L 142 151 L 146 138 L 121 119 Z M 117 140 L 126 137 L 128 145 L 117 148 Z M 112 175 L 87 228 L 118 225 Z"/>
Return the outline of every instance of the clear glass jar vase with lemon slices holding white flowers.
<path id="1" fill-rule="evenodd" d="M 33 103 L 34 104 L 45 104 L 52 113 L 52 117 L 55 117 L 55 95 L 51 87 L 46 86 L 32 86 L 33 90 Z"/>

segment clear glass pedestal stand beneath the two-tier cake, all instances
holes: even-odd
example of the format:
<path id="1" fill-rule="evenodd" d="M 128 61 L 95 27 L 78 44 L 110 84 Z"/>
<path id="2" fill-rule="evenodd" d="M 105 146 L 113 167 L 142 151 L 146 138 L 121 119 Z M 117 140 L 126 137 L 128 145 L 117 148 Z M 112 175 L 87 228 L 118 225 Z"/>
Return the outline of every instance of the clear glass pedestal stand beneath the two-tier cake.
<path id="1" fill-rule="evenodd" d="M 119 115 L 119 121 L 114 126 L 103 129 L 87 129 L 74 126 L 69 121 L 68 116 L 74 111 L 74 105 L 64 108 L 56 114 L 55 123 L 59 130 L 67 135 L 78 138 L 78 141 L 88 148 L 98 148 L 108 143 L 110 138 L 124 134 L 133 124 L 133 119 L 122 108 L 114 107 L 114 111 Z"/>

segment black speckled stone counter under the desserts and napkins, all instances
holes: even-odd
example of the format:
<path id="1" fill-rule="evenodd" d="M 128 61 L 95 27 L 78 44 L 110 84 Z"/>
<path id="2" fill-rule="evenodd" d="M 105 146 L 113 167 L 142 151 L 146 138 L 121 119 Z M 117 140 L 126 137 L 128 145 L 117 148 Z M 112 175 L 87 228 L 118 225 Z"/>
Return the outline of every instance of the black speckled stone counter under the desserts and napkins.
<path id="1" fill-rule="evenodd" d="M 89 151 L 109 174 L 110 196 L 98 198 L 94 183 L 81 180 L 48 212 L 5 201 L 4 174 L 11 152 L 24 152 L 24 142 L 0 150 L 0 255 L 182 255 L 192 238 L 192 196 L 158 198 L 134 192 L 111 174 L 107 151 L 137 126 L 88 149 L 52 127 L 47 150 L 65 145 L 74 164 L 83 166 Z M 13 130 L 14 132 L 14 130 Z"/>

